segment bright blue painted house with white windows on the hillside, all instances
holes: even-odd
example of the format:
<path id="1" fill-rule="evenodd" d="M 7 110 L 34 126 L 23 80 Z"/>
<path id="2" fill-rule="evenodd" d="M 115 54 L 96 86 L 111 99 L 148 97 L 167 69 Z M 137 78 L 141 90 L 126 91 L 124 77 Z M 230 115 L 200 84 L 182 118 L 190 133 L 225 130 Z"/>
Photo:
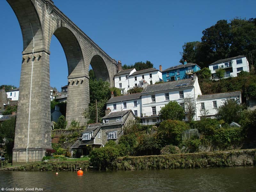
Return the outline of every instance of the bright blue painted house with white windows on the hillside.
<path id="1" fill-rule="evenodd" d="M 201 68 L 196 63 L 187 63 L 170 67 L 162 71 L 163 81 L 178 81 L 181 79 L 191 78 L 193 72 L 199 71 Z"/>

